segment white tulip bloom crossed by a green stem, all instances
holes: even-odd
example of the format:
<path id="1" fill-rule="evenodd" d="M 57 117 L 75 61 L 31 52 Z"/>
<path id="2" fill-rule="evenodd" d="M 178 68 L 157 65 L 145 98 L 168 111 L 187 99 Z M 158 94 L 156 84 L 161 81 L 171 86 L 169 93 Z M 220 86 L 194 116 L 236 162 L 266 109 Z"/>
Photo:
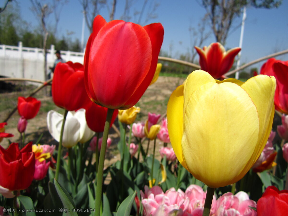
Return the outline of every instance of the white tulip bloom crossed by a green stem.
<path id="1" fill-rule="evenodd" d="M 93 135 L 94 132 L 88 128 L 85 118 L 85 109 L 79 109 L 77 112 L 69 111 L 67 113 L 62 145 L 71 148 L 77 142 L 86 142 Z M 54 110 L 50 110 L 47 114 L 48 130 L 52 137 L 59 142 L 60 132 L 64 116 Z"/>

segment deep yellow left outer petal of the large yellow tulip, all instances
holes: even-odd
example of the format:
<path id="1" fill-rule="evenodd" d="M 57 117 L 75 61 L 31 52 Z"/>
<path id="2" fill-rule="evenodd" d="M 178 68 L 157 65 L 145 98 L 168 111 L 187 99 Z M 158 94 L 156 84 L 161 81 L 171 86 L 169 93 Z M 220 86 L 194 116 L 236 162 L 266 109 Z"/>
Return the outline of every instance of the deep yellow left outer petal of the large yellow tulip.
<path id="1" fill-rule="evenodd" d="M 167 128 L 169 138 L 178 161 L 185 169 L 187 165 L 183 158 L 181 140 L 183 134 L 183 103 L 184 85 L 178 86 L 171 94 L 167 105 Z M 177 127 L 175 127 L 177 125 Z"/>

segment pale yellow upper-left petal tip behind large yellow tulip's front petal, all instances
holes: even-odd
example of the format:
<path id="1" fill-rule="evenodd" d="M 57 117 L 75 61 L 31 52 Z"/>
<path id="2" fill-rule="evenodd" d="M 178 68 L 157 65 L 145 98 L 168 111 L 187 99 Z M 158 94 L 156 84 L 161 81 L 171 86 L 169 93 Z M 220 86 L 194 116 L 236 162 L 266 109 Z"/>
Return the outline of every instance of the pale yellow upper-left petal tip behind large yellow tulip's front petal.
<path id="1" fill-rule="evenodd" d="M 205 83 L 216 81 L 214 78 L 207 72 L 203 70 L 196 70 L 193 71 L 187 79 L 185 80 L 184 84 L 184 113 L 185 113 L 185 107 L 187 105 L 188 99 L 190 98 L 191 94 L 200 86 L 202 86 Z"/>

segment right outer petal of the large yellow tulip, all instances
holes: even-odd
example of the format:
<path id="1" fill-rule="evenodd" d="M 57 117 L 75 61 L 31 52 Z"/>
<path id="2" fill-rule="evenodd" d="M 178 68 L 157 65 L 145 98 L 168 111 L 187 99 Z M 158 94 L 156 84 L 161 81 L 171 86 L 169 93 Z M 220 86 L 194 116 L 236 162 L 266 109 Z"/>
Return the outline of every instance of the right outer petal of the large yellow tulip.
<path id="1" fill-rule="evenodd" d="M 241 87 L 251 97 L 259 116 L 259 145 L 252 155 L 252 160 L 247 164 L 248 169 L 250 169 L 264 149 L 272 129 L 274 117 L 274 103 L 272 101 L 274 100 L 276 80 L 273 76 L 270 78 L 266 75 L 258 75 L 247 80 Z"/>

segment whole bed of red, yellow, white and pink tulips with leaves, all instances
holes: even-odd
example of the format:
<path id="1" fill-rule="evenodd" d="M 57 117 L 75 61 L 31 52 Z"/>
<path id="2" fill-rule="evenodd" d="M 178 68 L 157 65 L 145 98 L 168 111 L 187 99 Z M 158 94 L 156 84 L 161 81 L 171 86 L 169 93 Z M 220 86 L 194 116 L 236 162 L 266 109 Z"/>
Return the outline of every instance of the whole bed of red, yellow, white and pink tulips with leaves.
<path id="1" fill-rule="evenodd" d="M 288 62 L 270 59 L 246 82 L 223 80 L 240 48 L 212 43 L 196 47 L 207 72 L 169 86 L 158 79 L 163 34 L 160 23 L 98 15 L 84 65 L 55 68 L 57 110 L 18 97 L 15 130 L 0 123 L 0 142 L 14 141 L 0 146 L 0 215 L 287 213 Z M 48 129 L 31 141 L 37 122 Z M 118 160 L 107 163 L 112 146 Z"/>

